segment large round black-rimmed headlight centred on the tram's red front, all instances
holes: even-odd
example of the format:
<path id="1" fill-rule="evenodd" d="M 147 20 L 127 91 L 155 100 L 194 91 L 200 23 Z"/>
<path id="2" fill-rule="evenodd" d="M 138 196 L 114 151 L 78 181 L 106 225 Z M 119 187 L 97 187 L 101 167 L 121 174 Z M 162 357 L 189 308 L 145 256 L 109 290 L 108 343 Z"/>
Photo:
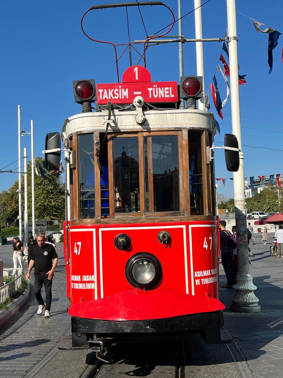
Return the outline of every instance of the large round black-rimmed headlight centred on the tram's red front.
<path id="1" fill-rule="evenodd" d="M 128 260 L 125 275 L 132 286 L 146 289 L 156 286 L 160 282 L 162 268 L 154 255 L 142 252 Z"/>

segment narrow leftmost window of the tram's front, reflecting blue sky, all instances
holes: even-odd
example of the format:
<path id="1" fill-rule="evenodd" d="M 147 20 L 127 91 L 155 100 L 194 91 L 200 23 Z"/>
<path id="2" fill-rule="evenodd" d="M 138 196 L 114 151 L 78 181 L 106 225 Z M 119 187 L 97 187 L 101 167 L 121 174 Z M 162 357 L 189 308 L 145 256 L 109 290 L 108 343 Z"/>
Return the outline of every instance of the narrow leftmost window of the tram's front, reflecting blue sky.
<path id="1" fill-rule="evenodd" d="M 80 218 L 95 217 L 94 137 L 78 135 Z"/>

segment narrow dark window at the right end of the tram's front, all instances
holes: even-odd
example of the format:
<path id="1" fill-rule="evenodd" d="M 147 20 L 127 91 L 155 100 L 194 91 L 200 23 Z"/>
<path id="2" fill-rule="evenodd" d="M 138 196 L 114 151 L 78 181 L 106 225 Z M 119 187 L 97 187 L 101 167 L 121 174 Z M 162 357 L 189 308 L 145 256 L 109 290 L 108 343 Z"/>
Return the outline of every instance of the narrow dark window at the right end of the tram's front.
<path id="1" fill-rule="evenodd" d="M 201 133 L 189 131 L 189 179 L 191 213 L 203 215 Z"/>

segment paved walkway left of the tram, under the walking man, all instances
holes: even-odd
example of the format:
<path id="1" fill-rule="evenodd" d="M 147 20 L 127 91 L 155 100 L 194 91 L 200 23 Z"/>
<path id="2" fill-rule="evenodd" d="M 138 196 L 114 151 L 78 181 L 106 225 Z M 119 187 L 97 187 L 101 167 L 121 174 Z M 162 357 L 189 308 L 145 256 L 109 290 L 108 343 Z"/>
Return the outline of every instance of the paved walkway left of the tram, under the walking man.
<path id="1" fill-rule="evenodd" d="M 33 278 L 33 277 L 32 277 Z M 54 277 L 52 284 L 51 317 L 37 315 L 37 302 L 34 298 L 31 280 L 29 302 L 12 319 L 0 336 L 0 378 L 25 376 L 59 341 L 70 327 L 70 316 L 66 308 L 65 281 Z M 45 290 L 42 289 L 45 299 Z"/>

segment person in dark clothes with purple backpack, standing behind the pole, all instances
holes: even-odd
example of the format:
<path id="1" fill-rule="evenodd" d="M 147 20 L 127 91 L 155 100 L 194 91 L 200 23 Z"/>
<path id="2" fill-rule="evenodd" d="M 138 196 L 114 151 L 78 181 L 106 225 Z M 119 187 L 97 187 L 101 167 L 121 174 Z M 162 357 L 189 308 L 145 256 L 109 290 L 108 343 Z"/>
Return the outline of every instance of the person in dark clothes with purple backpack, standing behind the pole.
<path id="1" fill-rule="evenodd" d="M 231 232 L 226 230 L 225 220 L 219 222 L 220 228 L 220 249 L 222 265 L 226 274 L 227 284 L 224 288 L 232 288 L 236 283 L 236 273 L 233 264 L 233 250 L 237 248 L 237 243 L 232 239 Z"/>

